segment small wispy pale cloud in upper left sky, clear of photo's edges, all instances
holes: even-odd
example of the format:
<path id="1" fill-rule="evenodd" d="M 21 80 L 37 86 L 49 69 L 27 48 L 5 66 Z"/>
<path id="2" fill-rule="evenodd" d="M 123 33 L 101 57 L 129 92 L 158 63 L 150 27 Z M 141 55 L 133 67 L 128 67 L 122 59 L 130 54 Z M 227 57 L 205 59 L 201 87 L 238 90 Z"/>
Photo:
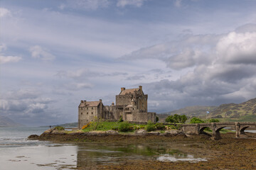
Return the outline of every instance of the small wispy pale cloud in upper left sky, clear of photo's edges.
<path id="1" fill-rule="evenodd" d="M 38 59 L 41 59 L 44 61 L 50 61 L 50 60 L 55 59 L 54 55 L 50 54 L 50 52 L 48 52 L 48 50 L 43 49 L 43 47 L 41 47 L 39 45 L 30 47 L 29 51 L 31 52 L 31 57 L 33 57 L 33 58 L 38 58 Z"/>

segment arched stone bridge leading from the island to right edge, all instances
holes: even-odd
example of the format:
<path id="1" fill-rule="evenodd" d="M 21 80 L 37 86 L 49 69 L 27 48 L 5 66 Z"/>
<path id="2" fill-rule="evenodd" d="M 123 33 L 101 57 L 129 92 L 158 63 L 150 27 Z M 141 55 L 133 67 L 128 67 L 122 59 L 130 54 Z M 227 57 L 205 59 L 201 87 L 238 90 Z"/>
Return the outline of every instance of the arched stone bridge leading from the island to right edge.
<path id="1" fill-rule="evenodd" d="M 220 130 L 223 128 L 231 128 L 235 130 L 235 137 L 245 135 L 246 128 L 256 128 L 256 123 L 251 122 L 235 122 L 235 123 L 194 123 L 182 125 L 183 132 L 187 135 L 206 134 L 203 132 L 206 128 L 213 131 L 212 136 L 215 140 L 221 139 Z"/>

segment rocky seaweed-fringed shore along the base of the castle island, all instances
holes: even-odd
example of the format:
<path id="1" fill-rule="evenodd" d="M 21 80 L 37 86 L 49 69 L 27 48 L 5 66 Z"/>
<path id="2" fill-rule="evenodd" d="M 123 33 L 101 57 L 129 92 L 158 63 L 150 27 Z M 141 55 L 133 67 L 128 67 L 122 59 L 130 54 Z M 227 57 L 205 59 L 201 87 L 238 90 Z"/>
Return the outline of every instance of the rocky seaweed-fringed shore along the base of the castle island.
<path id="1" fill-rule="evenodd" d="M 167 141 L 171 137 L 186 138 L 181 130 L 166 130 L 165 132 L 146 132 L 137 130 L 132 133 L 119 133 L 115 130 L 68 132 L 65 130 L 46 130 L 41 135 L 30 135 L 28 140 L 48 140 L 52 142 L 138 142 Z"/>

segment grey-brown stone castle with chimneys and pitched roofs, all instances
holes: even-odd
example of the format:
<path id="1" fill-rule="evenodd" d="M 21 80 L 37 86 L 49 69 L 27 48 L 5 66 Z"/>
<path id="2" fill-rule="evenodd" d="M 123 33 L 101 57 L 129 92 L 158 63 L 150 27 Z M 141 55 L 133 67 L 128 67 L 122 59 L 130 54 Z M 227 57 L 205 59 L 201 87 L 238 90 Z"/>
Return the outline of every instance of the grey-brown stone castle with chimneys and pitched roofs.
<path id="1" fill-rule="evenodd" d="M 142 91 L 142 86 L 135 89 L 121 88 L 116 96 L 116 105 L 104 106 L 102 100 L 81 101 L 78 106 L 78 127 L 102 118 L 103 120 L 117 121 L 120 118 L 128 122 L 146 123 L 149 120 L 156 122 L 156 113 L 147 112 L 148 95 Z"/>

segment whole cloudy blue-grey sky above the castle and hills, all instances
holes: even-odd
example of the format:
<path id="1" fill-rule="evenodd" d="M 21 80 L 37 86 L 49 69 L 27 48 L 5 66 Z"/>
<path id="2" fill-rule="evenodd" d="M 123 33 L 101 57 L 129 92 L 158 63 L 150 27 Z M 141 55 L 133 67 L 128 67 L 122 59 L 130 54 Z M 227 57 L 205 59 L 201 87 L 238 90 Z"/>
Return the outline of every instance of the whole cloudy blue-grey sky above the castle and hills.
<path id="1" fill-rule="evenodd" d="M 1 0 L 0 115 L 76 122 L 143 86 L 148 111 L 256 97 L 256 0 Z"/>

